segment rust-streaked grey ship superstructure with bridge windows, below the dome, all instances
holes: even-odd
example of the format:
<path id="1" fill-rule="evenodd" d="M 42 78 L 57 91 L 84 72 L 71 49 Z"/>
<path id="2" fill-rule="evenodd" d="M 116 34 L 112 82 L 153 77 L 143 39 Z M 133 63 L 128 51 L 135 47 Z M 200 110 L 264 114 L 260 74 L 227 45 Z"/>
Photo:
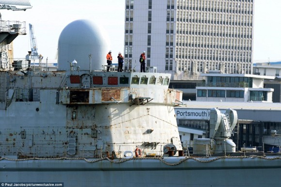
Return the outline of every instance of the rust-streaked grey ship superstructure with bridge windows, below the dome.
<path id="1" fill-rule="evenodd" d="M 168 89 L 169 74 L 14 71 L 0 80 L 5 155 L 123 158 L 136 147 L 158 156 L 166 144 L 182 149 L 173 110 L 182 93 Z"/>

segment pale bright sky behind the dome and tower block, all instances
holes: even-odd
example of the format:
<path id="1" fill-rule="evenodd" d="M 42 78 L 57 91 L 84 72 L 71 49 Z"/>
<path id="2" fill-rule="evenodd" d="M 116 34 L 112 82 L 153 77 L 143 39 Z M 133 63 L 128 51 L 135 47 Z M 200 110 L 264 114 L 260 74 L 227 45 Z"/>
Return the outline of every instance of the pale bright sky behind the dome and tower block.
<path id="1" fill-rule="evenodd" d="M 281 0 L 254 1 L 253 60 L 281 61 Z M 32 8 L 26 11 L 0 10 L 2 20 L 26 22 L 27 34 L 14 41 L 14 58 L 25 58 L 31 50 L 29 24 L 32 24 L 43 61 L 55 59 L 62 29 L 78 19 L 89 19 L 107 31 L 113 57 L 124 52 L 125 0 L 30 2 Z"/>

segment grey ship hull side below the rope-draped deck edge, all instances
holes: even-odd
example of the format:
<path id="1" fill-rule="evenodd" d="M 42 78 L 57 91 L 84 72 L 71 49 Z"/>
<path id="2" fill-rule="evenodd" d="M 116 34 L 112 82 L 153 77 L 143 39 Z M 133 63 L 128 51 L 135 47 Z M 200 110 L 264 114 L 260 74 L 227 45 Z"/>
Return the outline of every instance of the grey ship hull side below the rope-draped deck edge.
<path id="1" fill-rule="evenodd" d="M 63 182 L 64 187 L 268 187 L 277 184 L 281 172 L 280 158 L 254 156 L 119 161 L 3 159 L 1 182 Z"/>

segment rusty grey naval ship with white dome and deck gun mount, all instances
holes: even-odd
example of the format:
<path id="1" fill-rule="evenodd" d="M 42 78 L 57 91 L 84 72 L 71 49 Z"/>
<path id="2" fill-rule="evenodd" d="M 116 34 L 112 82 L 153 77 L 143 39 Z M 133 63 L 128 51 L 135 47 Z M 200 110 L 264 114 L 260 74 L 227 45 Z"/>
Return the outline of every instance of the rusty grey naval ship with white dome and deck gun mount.
<path id="1" fill-rule="evenodd" d="M 5 1 L 5 2 L 4 2 Z M 26 10 L 27 0 L 0 0 Z M 27 11 L 28 12 L 28 11 Z M 277 186 L 279 156 L 235 153 L 236 111 L 210 113 L 210 138 L 193 155 L 180 140 L 175 106 L 182 92 L 171 75 L 107 72 L 102 31 L 76 20 L 61 32 L 56 71 L 30 51 L 13 59 L 25 22 L 1 21 L 0 184 L 65 187 Z M 38 60 L 39 63 L 35 63 Z"/>

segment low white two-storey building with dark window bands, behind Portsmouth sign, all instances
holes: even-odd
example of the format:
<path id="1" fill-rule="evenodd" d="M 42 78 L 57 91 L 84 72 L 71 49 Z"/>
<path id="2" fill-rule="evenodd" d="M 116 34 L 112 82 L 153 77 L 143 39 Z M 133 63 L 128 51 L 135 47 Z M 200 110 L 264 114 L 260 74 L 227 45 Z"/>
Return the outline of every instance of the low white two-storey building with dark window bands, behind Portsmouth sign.
<path id="1" fill-rule="evenodd" d="M 205 73 L 205 83 L 197 84 L 196 101 L 272 102 L 273 88 L 264 88 L 264 80 L 275 76 L 253 74 Z"/>

